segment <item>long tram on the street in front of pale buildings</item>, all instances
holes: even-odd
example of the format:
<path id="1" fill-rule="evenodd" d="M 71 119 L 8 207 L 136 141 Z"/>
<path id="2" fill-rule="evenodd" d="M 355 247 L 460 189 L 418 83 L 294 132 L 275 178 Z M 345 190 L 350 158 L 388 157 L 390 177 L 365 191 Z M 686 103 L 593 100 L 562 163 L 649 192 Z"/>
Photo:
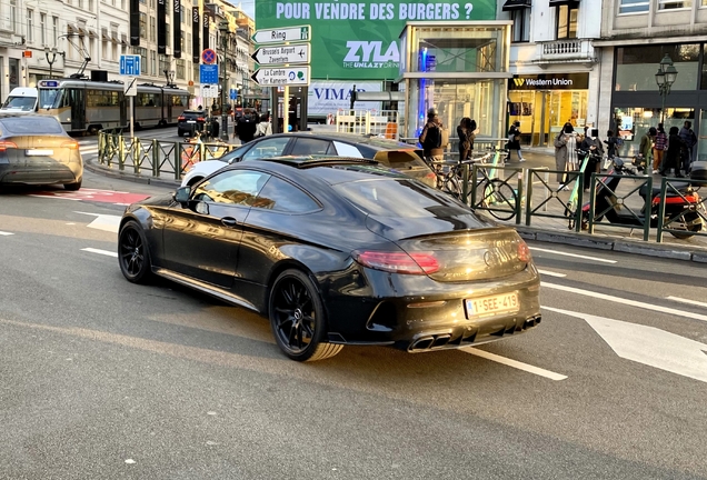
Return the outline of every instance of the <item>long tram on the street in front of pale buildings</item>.
<path id="1" fill-rule="evenodd" d="M 121 81 L 79 79 L 40 80 L 37 112 L 59 120 L 67 132 L 96 134 L 101 129 L 127 127 L 129 98 Z M 189 107 L 189 92 L 152 83 L 138 86 L 133 100 L 136 128 L 168 126 Z"/>

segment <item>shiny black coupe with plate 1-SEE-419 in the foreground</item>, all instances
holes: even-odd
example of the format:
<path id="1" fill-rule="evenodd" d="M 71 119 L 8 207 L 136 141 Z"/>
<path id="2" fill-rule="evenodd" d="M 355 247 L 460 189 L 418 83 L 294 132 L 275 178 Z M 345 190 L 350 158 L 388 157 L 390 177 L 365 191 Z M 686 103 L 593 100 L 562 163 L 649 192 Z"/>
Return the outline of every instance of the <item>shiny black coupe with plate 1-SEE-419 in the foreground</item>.
<path id="1" fill-rule="evenodd" d="M 129 281 L 158 274 L 267 314 L 299 361 L 345 344 L 460 348 L 540 322 L 514 229 L 372 160 L 231 164 L 128 207 L 118 257 Z"/>

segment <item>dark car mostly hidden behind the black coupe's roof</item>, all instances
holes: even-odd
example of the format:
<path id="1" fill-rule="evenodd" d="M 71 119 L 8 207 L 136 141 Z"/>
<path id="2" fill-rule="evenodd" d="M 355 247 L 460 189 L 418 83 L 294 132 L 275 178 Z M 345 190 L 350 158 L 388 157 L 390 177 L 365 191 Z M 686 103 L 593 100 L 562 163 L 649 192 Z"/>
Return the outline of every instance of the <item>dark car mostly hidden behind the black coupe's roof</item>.
<path id="1" fill-rule="evenodd" d="M 216 159 L 196 163 L 181 184 L 192 186 L 225 164 L 280 156 L 339 156 L 368 158 L 435 186 L 436 177 L 422 160 L 422 150 L 378 137 L 352 133 L 296 132 L 261 137 Z"/>

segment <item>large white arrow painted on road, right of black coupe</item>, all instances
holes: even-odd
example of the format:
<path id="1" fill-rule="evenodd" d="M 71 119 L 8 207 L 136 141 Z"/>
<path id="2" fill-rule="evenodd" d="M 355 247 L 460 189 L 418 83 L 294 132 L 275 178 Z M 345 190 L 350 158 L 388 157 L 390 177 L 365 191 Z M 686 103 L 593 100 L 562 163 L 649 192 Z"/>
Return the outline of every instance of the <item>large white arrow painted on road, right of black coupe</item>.
<path id="1" fill-rule="evenodd" d="M 586 320 L 620 358 L 707 382 L 707 344 L 705 343 L 655 327 L 556 308 L 542 308 Z"/>

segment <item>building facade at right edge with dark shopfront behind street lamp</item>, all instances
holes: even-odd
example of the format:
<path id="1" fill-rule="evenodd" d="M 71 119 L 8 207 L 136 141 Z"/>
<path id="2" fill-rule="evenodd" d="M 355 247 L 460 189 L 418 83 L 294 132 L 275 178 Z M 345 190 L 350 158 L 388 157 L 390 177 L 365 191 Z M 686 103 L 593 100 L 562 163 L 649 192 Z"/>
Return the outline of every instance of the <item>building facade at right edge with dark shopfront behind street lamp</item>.
<path id="1" fill-rule="evenodd" d="M 626 138 L 621 153 L 636 151 L 640 137 L 663 120 L 666 130 L 685 121 L 700 139 L 695 154 L 707 159 L 707 1 L 605 0 L 600 51 L 599 124 Z M 661 96 L 656 73 L 673 62 L 677 77 Z"/>

